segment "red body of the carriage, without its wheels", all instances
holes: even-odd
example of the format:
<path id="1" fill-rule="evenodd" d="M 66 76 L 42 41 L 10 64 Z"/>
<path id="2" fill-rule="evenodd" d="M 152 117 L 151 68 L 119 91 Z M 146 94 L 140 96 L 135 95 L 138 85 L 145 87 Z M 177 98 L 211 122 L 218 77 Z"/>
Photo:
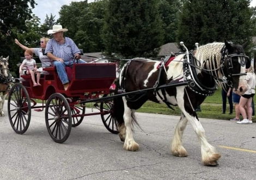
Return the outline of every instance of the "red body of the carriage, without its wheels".
<path id="1" fill-rule="evenodd" d="M 22 85 L 25 86 L 30 98 L 48 100 L 54 93 L 63 94 L 65 97 L 86 99 L 94 92 L 109 94 L 109 87 L 115 76 L 114 63 L 87 63 L 74 64 L 72 68 L 72 80 L 69 89 L 64 90 L 55 67 L 45 67 L 43 71 L 48 75 L 41 75 L 41 86 L 33 86 L 30 75 L 21 75 Z M 89 97 L 93 98 L 93 96 Z"/>

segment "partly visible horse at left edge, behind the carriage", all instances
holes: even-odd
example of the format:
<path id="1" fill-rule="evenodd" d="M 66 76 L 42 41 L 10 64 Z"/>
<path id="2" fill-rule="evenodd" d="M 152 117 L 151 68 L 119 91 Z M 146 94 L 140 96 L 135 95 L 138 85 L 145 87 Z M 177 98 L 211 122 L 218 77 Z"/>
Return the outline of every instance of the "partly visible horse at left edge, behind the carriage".
<path id="1" fill-rule="evenodd" d="M 0 93 L 3 93 L 3 96 L 0 96 L 0 116 L 4 116 L 3 105 L 5 97 L 7 96 L 11 86 L 11 75 L 9 72 L 9 56 L 7 58 L 0 58 Z"/>

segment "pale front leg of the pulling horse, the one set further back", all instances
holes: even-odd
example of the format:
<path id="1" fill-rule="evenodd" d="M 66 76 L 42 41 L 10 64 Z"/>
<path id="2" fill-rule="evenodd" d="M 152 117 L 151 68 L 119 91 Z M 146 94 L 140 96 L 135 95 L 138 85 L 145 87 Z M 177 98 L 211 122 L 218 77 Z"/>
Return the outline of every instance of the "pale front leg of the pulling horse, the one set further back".
<path id="1" fill-rule="evenodd" d="M 174 156 L 178 156 L 178 157 L 187 156 L 187 151 L 182 146 L 182 137 L 183 137 L 183 133 L 186 126 L 187 126 L 187 119 L 184 116 L 184 114 L 181 114 L 178 125 L 175 128 L 172 145 L 170 146 L 170 151 Z"/>

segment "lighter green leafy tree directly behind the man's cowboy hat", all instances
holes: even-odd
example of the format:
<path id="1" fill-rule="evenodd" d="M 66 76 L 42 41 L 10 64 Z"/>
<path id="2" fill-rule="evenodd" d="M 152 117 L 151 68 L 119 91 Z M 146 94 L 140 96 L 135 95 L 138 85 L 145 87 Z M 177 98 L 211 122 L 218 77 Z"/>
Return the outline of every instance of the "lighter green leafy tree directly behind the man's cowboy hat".
<path id="1" fill-rule="evenodd" d="M 59 11 L 58 23 L 69 29 L 65 36 L 73 39 L 84 52 L 100 52 L 103 49 L 101 29 L 107 0 L 93 3 L 72 2 Z"/>

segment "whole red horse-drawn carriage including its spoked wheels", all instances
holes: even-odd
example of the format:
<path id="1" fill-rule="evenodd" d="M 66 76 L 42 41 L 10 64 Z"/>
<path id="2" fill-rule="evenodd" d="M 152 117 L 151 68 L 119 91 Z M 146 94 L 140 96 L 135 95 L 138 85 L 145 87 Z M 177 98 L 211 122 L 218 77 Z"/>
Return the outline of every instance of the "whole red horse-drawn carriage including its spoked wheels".
<path id="1" fill-rule="evenodd" d="M 112 116 L 112 102 L 97 101 L 100 97 L 111 95 L 110 87 L 116 78 L 115 63 L 74 64 L 67 91 L 64 90 L 55 67 L 45 67 L 42 70 L 41 86 L 33 86 L 30 75 L 21 75 L 21 83 L 14 84 L 9 92 L 8 115 L 16 133 L 23 134 L 27 131 L 31 109 L 41 111 L 44 108 L 48 133 L 58 143 L 68 139 L 71 127 L 80 125 L 84 116 L 89 115 L 101 115 L 108 131 L 118 133 L 117 123 Z M 42 100 L 40 105 L 38 100 Z M 86 114 L 86 100 L 93 100 L 94 107 L 100 111 Z"/>

